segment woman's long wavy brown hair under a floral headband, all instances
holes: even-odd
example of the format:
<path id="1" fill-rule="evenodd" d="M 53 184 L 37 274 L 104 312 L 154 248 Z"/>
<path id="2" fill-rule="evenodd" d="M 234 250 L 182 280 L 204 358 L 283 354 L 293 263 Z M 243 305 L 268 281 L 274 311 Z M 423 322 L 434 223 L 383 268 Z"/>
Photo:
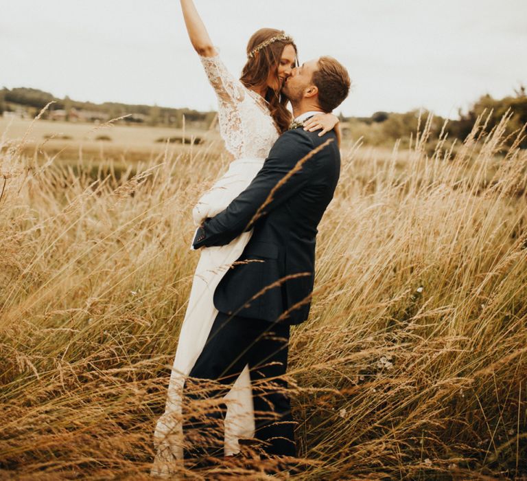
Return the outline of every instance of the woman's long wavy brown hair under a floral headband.
<path id="1" fill-rule="evenodd" d="M 269 38 L 283 33 L 285 33 L 283 30 L 276 30 L 274 28 L 261 28 L 260 30 L 257 30 L 257 32 L 249 38 L 247 55 L 250 54 L 255 47 L 267 41 Z M 296 54 L 296 45 L 294 45 L 293 41 L 278 40 L 261 49 L 257 55 L 249 57 L 242 70 L 242 77 L 239 79 L 242 84 L 248 89 L 251 87 L 266 85 L 269 72 L 273 71 L 279 82 L 278 66 L 282 57 L 283 49 L 286 45 L 292 45 Z M 296 63 L 298 63 L 298 61 L 296 61 Z M 288 99 L 285 98 L 280 91 L 276 91 L 270 87 L 268 87 L 266 91 L 265 98 L 269 102 L 269 109 L 274 123 L 277 124 L 280 133 L 285 132 L 288 130 L 289 124 L 292 120 L 290 111 L 285 107 L 285 104 L 288 103 Z"/>

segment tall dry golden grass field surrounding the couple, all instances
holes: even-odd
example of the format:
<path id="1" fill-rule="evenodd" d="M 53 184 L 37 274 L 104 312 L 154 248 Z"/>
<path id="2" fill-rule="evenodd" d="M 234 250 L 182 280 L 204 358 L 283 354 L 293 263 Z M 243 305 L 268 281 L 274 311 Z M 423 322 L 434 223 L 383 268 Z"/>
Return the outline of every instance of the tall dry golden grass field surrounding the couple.
<path id="1" fill-rule="evenodd" d="M 506 122 L 452 152 L 424 120 L 410 150 L 344 144 L 290 342 L 294 477 L 527 477 L 527 153 Z M 191 206 L 229 156 L 215 132 L 28 126 L 0 146 L 0 478 L 149 478 Z"/>

